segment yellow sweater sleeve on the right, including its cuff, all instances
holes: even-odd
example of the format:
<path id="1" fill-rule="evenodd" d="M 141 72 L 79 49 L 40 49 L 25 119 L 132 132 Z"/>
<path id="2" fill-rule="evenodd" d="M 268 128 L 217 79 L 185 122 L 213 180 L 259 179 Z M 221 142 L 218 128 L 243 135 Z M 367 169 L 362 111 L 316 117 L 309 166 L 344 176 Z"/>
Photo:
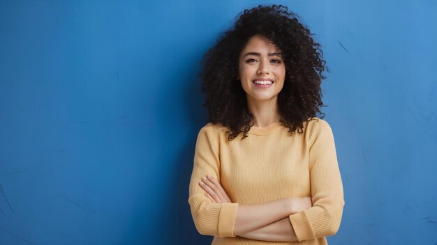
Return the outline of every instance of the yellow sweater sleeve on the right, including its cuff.
<path id="1" fill-rule="evenodd" d="M 343 214 L 343 186 L 334 136 L 325 120 L 309 129 L 309 171 L 313 207 L 289 216 L 298 241 L 334 235 Z"/>

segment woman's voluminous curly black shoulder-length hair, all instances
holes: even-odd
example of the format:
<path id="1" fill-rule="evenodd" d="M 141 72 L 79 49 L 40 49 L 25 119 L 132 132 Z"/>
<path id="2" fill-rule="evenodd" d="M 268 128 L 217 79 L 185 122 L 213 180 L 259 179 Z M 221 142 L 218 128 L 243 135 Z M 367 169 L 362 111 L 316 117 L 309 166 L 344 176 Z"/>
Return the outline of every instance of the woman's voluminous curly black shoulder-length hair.
<path id="1" fill-rule="evenodd" d="M 284 86 L 278 95 L 281 123 L 289 132 L 303 132 L 304 122 L 322 115 L 320 84 L 327 70 L 320 45 L 299 16 L 286 6 L 258 6 L 244 10 L 233 29 L 223 33 L 203 59 L 200 72 L 204 106 L 209 122 L 228 127 L 228 140 L 242 134 L 244 139 L 253 126 L 253 114 L 239 82 L 239 55 L 253 35 L 263 35 L 281 50 L 286 65 Z"/>

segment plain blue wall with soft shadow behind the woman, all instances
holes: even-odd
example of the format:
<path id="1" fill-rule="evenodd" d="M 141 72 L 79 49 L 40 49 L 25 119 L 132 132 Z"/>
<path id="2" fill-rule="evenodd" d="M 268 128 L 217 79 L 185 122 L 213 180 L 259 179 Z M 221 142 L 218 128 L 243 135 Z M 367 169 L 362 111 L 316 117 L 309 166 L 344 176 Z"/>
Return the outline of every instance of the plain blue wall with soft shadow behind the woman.
<path id="1" fill-rule="evenodd" d="M 200 59 L 273 1 L 0 1 L 0 244 L 209 244 L 189 212 Z M 323 45 L 332 244 L 437 243 L 437 1 L 276 1 Z"/>

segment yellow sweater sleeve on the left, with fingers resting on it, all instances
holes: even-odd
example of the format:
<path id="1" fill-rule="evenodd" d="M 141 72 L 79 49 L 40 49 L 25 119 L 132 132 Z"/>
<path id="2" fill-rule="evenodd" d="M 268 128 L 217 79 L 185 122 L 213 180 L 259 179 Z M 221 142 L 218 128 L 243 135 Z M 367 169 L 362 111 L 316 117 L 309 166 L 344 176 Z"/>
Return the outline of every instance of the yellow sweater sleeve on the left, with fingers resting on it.
<path id="1" fill-rule="evenodd" d="M 195 145 L 194 166 L 191 174 L 188 203 L 198 232 L 216 237 L 235 237 L 237 203 L 212 203 L 205 196 L 199 182 L 207 174 L 220 181 L 218 130 L 207 125 L 200 129 Z"/>

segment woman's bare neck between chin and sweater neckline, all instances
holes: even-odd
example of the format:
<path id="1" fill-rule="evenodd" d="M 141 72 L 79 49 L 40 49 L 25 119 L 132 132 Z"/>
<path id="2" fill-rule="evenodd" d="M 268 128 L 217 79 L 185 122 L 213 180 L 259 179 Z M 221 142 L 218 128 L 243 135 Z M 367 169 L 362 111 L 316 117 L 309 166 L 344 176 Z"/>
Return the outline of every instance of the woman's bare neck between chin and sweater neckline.
<path id="1" fill-rule="evenodd" d="M 253 114 L 255 127 L 266 127 L 281 118 L 276 100 L 253 101 L 247 99 L 249 111 Z"/>

